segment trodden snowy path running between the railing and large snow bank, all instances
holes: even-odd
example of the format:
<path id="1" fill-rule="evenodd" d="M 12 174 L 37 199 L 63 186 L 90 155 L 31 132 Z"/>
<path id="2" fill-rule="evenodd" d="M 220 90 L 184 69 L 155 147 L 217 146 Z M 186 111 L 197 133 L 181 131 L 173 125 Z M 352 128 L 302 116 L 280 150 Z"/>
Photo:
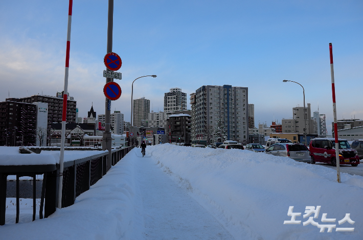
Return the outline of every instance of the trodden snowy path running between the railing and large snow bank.
<path id="1" fill-rule="evenodd" d="M 150 148 L 147 148 L 149 150 Z M 146 239 L 234 239 L 212 215 L 139 151 L 136 161 Z"/>

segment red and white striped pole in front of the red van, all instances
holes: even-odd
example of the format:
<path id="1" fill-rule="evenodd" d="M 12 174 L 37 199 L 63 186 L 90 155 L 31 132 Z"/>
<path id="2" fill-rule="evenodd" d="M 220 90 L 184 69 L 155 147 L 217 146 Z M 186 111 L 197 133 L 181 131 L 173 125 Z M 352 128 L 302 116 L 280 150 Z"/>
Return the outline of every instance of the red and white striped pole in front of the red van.
<path id="1" fill-rule="evenodd" d="M 335 86 L 334 86 L 334 66 L 333 66 L 333 46 L 329 43 L 330 52 L 330 74 L 331 74 L 331 91 L 333 93 L 333 114 L 334 114 L 334 137 L 335 137 L 335 161 L 336 161 L 336 175 L 338 182 L 341 182 L 341 168 L 339 160 L 339 142 L 338 142 L 338 127 L 336 121 L 336 103 L 335 103 Z"/>

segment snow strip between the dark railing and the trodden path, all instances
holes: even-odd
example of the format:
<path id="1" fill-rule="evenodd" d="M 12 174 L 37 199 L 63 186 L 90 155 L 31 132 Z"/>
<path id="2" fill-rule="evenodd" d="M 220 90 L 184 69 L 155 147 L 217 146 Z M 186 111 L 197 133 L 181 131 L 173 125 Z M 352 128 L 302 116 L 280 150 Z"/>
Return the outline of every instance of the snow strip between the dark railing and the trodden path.
<path id="1" fill-rule="evenodd" d="M 135 186 L 132 156 L 127 154 L 74 205 L 57 209 L 47 219 L 0 226 L 0 238 L 143 239 L 141 193 Z"/>

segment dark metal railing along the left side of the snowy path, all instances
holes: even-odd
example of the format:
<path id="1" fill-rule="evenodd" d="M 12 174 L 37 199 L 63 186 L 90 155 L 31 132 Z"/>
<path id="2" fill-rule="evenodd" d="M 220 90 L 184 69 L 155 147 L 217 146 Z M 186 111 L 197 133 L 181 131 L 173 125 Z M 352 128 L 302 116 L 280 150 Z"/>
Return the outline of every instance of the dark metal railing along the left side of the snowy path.
<path id="1" fill-rule="evenodd" d="M 76 197 L 84 193 L 90 186 L 95 184 L 108 171 L 106 163 L 111 161 L 114 166 L 118 163 L 132 147 L 114 149 L 111 153 L 111 159 L 107 159 L 108 152 L 95 154 L 90 157 L 76 159 L 74 161 L 64 162 L 63 169 L 63 187 L 62 187 L 62 207 L 68 207 L 74 204 Z M 97 152 L 95 152 L 97 153 Z M 6 211 L 6 185 L 7 176 L 16 175 L 16 220 L 19 222 L 19 177 L 43 174 L 42 191 L 40 198 L 39 218 L 47 218 L 55 212 L 58 205 L 58 179 L 59 164 L 55 165 L 11 165 L 0 167 L 0 225 L 5 224 Z M 33 193 L 35 193 L 36 181 L 33 182 Z M 44 203 L 45 198 L 45 203 Z M 35 194 L 33 194 L 33 221 L 35 220 Z"/>

